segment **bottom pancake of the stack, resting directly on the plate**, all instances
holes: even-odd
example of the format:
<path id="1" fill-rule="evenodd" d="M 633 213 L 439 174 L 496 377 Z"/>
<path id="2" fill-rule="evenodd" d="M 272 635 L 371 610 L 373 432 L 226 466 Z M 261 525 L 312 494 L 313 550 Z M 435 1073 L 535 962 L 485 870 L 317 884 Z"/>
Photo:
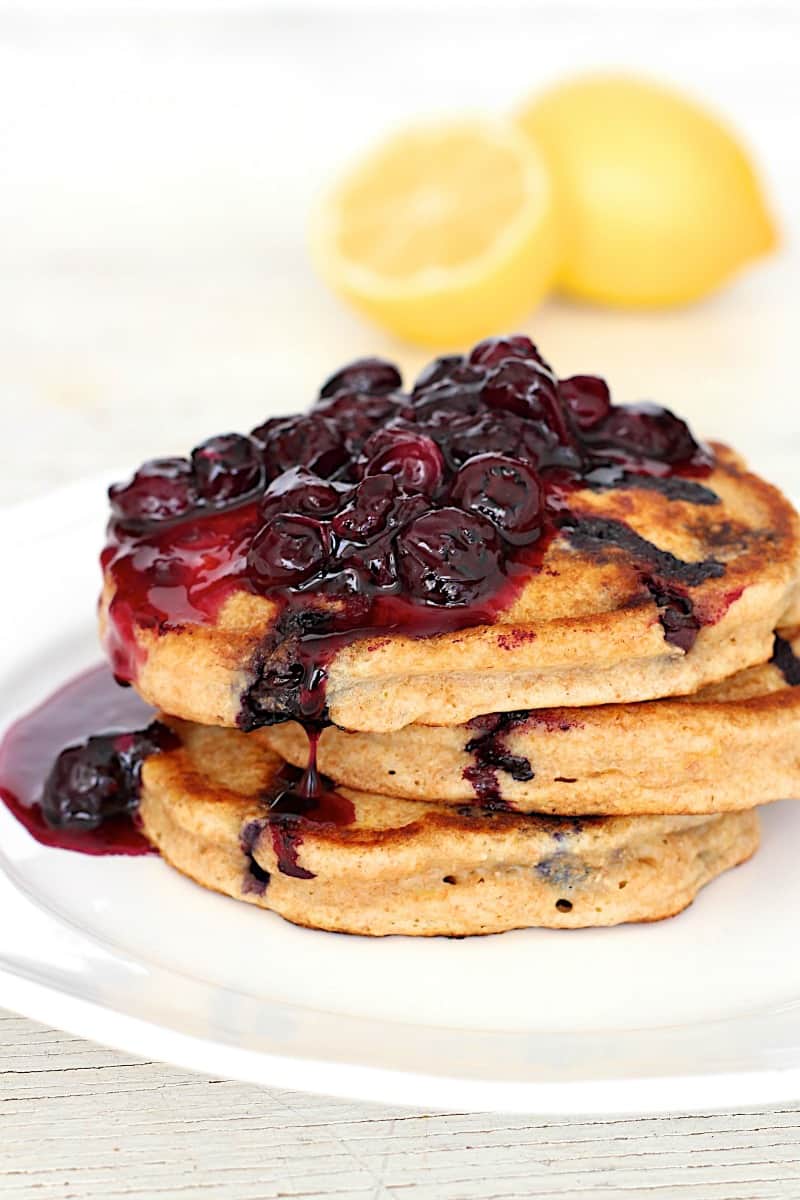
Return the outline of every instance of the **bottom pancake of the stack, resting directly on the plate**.
<path id="1" fill-rule="evenodd" d="M 204 887 L 315 929 L 464 936 L 657 920 L 758 846 L 754 812 L 567 820 L 349 790 L 318 821 L 271 822 L 265 796 L 283 764 L 260 738 L 170 725 L 180 746 L 143 768 L 146 836 Z"/>

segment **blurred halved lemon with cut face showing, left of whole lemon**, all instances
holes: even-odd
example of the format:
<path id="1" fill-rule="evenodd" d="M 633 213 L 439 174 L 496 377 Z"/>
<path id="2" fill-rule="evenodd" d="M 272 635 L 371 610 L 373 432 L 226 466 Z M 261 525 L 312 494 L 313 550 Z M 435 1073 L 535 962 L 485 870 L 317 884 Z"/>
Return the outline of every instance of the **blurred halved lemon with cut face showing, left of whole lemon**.
<path id="1" fill-rule="evenodd" d="M 323 197 L 311 248 L 330 287 L 384 329 L 464 346 L 516 325 L 551 287 L 549 175 L 511 122 L 410 128 Z"/>

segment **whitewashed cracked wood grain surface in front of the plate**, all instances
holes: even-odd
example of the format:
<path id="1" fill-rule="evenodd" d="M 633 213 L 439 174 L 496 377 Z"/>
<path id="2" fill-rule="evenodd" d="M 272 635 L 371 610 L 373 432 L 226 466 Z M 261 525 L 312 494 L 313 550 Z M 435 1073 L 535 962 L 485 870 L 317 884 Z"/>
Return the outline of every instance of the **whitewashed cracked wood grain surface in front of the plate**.
<path id="1" fill-rule="evenodd" d="M 204 1079 L 0 1013 L 2 1200 L 789 1200 L 800 1106 L 431 1115 Z"/>

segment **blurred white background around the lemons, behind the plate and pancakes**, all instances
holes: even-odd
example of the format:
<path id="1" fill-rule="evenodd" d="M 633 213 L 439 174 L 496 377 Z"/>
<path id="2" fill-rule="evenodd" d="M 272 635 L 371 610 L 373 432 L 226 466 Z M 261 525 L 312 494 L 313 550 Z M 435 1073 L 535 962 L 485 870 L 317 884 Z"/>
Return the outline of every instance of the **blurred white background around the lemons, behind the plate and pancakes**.
<path id="1" fill-rule="evenodd" d="M 792 485 L 792 0 L 50 0 L 0 4 L 0 499 L 301 406 L 348 355 L 419 366 L 313 275 L 311 200 L 393 125 L 507 110 L 596 66 L 670 80 L 735 124 L 783 248 L 691 310 L 549 302 L 528 328 L 563 372 L 674 406 Z"/>

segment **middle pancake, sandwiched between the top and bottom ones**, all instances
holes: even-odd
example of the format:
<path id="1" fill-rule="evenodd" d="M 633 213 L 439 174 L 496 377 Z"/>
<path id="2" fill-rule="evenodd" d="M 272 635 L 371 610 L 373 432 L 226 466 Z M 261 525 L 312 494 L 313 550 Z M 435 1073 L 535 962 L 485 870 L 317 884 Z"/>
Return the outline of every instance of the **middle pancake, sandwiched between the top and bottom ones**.
<path id="1" fill-rule="evenodd" d="M 326 728 L 319 767 L 362 791 L 521 812 L 726 812 L 800 797 L 800 631 L 775 644 L 772 661 L 680 700 Z M 299 725 L 254 736 L 305 766 Z"/>

